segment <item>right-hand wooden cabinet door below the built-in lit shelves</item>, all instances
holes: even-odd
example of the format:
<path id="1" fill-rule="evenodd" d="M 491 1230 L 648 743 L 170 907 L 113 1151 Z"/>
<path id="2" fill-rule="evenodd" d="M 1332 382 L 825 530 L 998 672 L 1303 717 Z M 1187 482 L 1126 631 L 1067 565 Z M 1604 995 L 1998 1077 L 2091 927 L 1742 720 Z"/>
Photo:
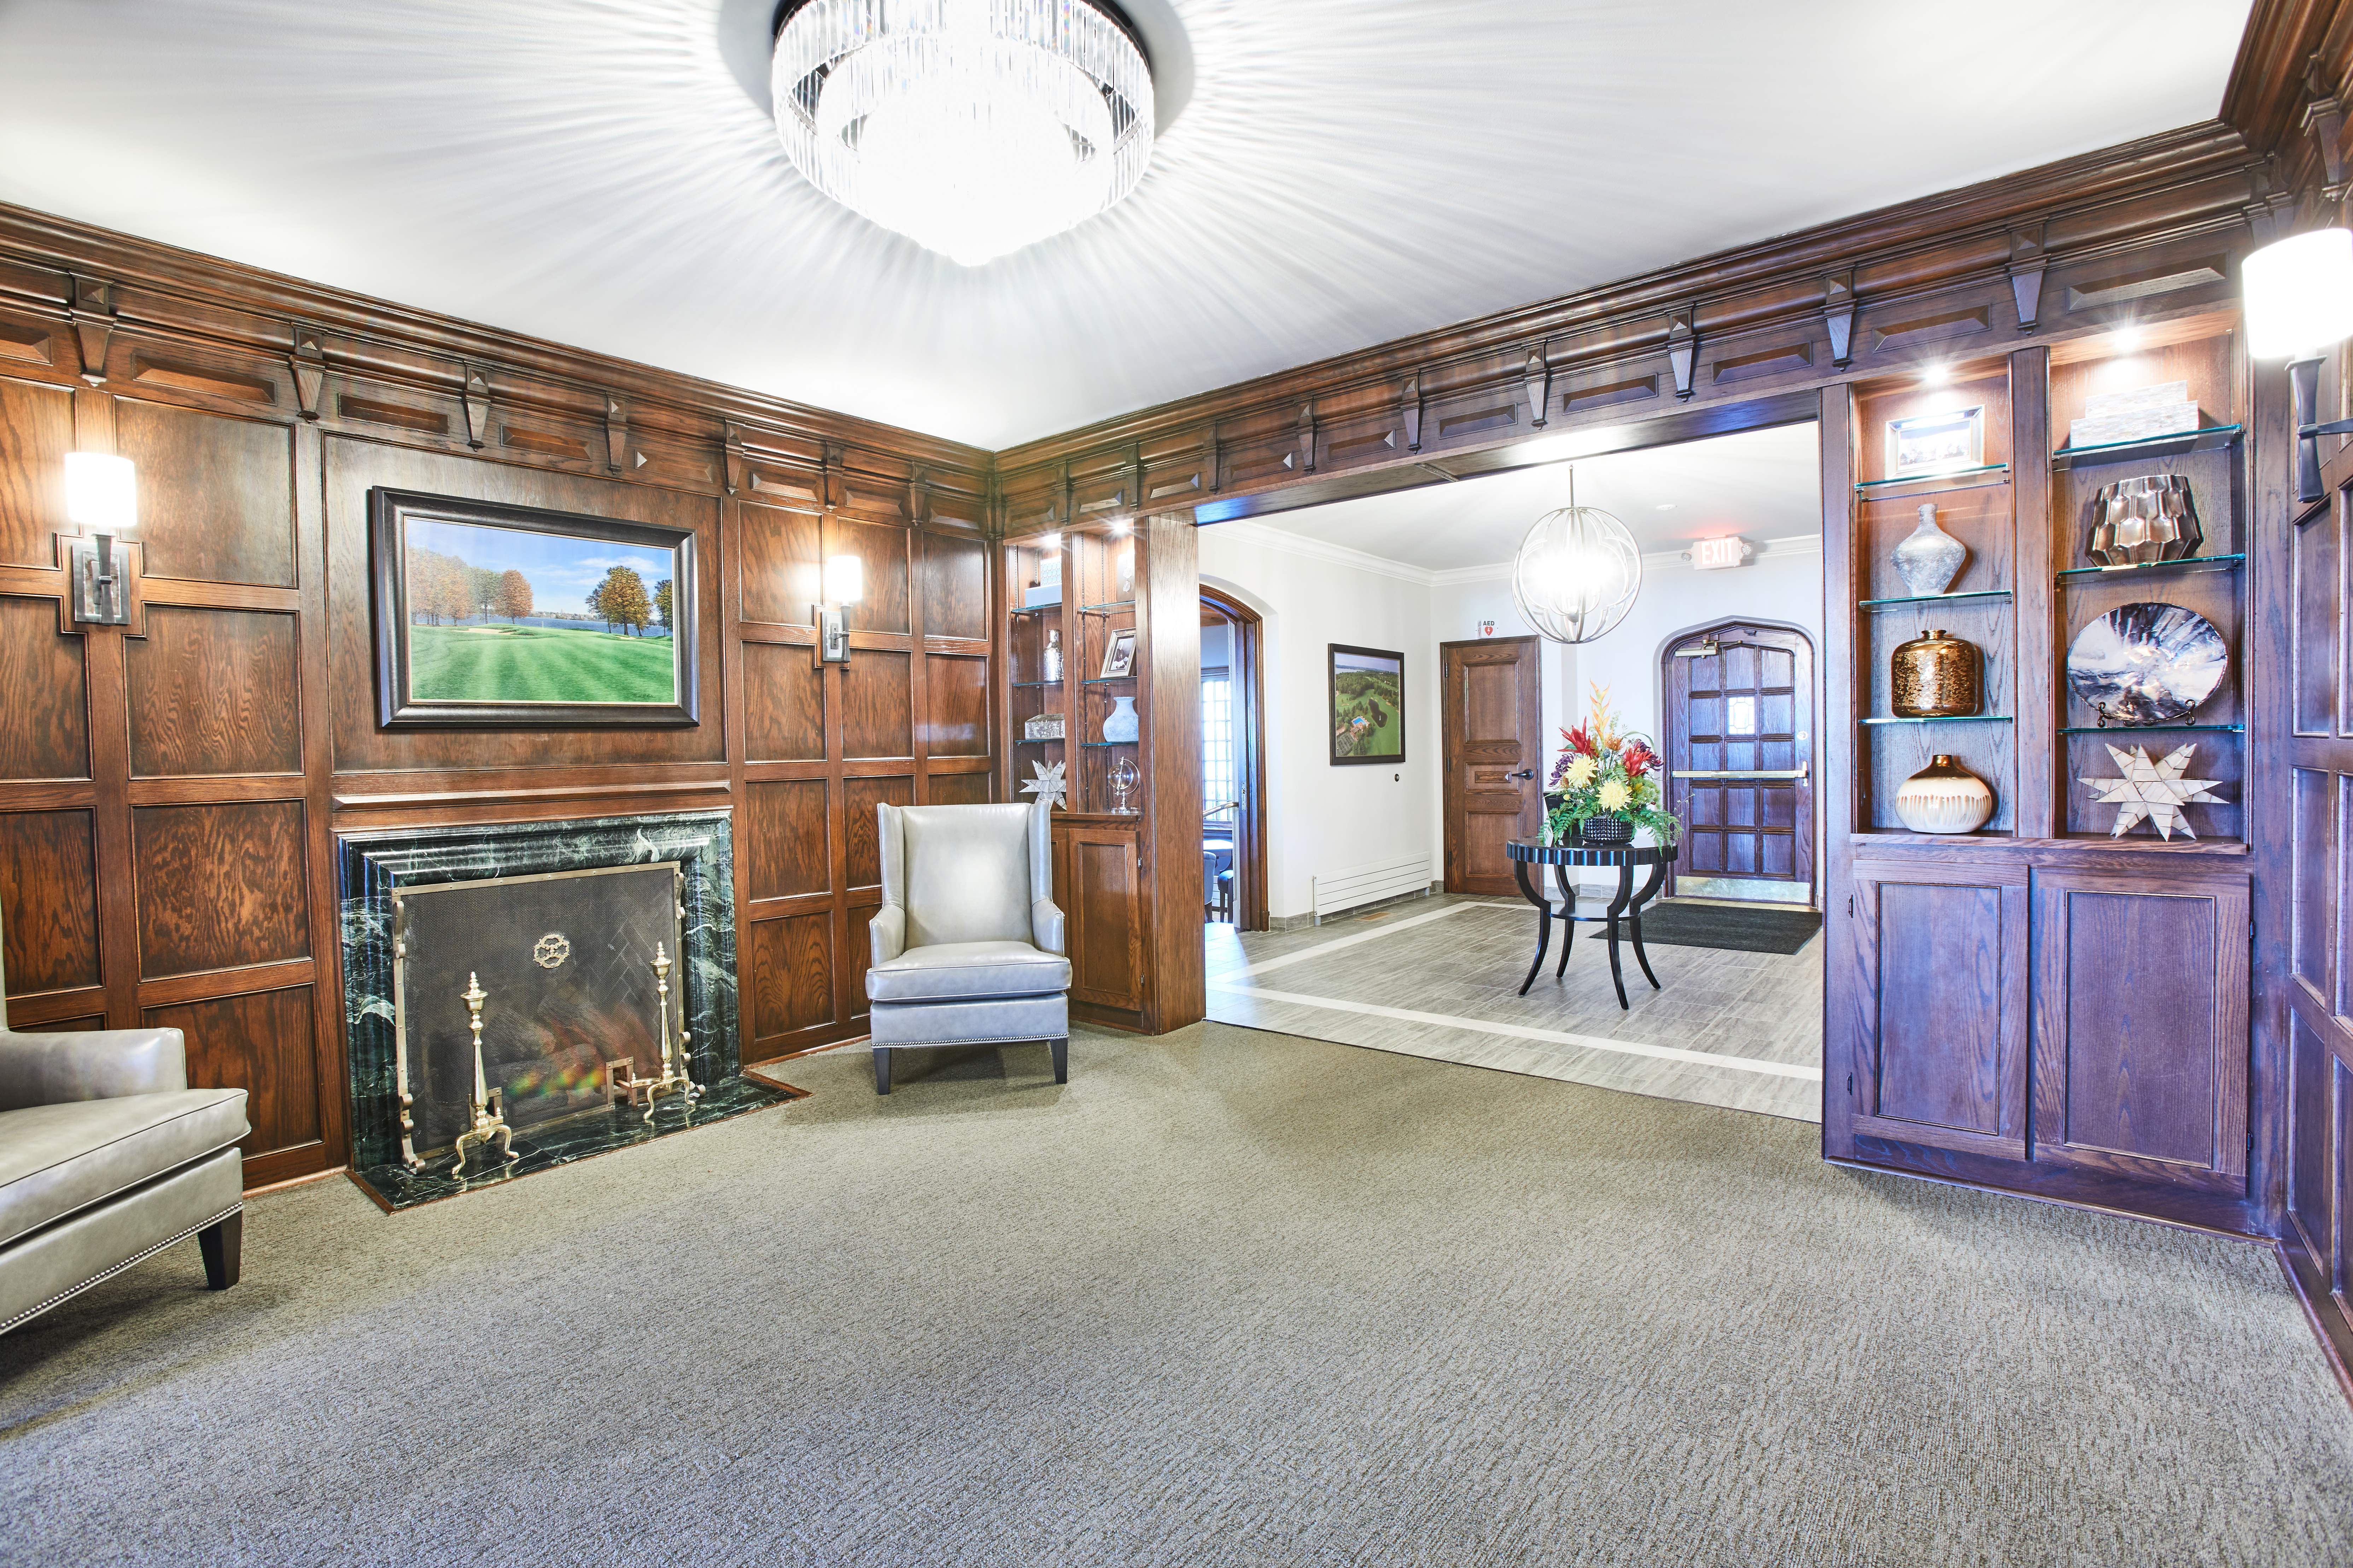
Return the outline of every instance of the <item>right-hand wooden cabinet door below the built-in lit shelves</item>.
<path id="1" fill-rule="evenodd" d="M 2247 1185 L 2247 877 L 2035 872 L 2035 1161 Z"/>

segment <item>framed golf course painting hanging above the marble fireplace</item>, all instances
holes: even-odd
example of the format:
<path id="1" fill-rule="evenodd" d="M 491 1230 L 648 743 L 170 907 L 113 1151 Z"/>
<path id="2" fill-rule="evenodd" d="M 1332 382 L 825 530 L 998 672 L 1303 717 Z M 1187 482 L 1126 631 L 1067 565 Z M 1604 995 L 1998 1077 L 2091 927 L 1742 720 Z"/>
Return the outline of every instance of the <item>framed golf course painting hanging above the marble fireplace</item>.
<path id="1" fill-rule="evenodd" d="M 696 724 L 694 534 L 367 494 L 384 729 Z"/>

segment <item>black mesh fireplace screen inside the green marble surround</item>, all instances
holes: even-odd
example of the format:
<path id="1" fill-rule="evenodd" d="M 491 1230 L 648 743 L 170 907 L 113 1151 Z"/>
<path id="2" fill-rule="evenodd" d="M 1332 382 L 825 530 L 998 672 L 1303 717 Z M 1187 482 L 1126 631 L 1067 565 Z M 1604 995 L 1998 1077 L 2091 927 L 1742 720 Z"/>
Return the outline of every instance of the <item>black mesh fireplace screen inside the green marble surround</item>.
<path id="1" fill-rule="evenodd" d="M 473 1126 L 468 983 L 482 990 L 482 1084 L 518 1133 L 602 1110 L 605 1065 L 661 1070 L 661 980 L 680 1046 L 680 867 L 612 865 L 407 886 L 393 896 L 398 1051 L 414 1095 L 412 1147 L 438 1154 Z"/>

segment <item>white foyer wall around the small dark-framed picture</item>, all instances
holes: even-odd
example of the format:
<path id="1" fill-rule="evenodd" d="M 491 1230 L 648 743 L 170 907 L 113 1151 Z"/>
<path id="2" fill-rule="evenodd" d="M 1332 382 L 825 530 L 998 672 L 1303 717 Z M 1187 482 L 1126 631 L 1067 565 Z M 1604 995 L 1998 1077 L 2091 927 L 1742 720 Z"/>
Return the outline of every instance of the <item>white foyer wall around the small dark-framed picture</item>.
<path id="1" fill-rule="evenodd" d="M 1409 576 L 1275 548 L 1247 524 L 1200 529 L 1200 581 L 1266 621 L 1259 644 L 1273 917 L 1308 914 L 1318 872 L 1409 853 L 1428 853 L 1438 867 L 1438 639 L 1428 574 L 1400 571 Z M 1325 668 L 1334 642 L 1405 654 L 1402 764 L 1332 766 Z"/>

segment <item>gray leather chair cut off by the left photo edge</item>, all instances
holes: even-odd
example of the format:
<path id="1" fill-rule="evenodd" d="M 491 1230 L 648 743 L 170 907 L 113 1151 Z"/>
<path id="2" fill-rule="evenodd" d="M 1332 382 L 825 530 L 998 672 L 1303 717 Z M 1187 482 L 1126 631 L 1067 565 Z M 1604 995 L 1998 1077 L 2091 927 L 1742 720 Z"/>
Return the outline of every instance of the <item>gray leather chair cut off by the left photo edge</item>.
<path id="1" fill-rule="evenodd" d="M 188 1088 L 179 1030 L 9 1034 L 0 976 L 0 1333 L 198 1239 L 238 1284 L 242 1088 Z"/>

